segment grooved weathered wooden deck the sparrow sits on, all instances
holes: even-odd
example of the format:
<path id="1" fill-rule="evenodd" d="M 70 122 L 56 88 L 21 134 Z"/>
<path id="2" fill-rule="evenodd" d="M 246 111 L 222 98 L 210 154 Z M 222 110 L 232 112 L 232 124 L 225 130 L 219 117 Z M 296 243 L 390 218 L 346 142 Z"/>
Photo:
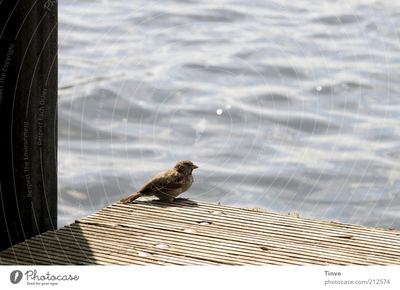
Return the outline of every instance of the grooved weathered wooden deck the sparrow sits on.
<path id="1" fill-rule="evenodd" d="M 0 252 L 0 264 L 388 265 L 400 232 L 192 200 L 112 204 Z"/>

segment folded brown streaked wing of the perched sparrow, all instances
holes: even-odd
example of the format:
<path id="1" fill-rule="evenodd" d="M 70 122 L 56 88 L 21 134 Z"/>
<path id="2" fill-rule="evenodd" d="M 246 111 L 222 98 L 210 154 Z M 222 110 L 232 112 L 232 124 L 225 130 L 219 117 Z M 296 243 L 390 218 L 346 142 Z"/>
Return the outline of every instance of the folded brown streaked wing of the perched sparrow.
<path id="1" fill-rule="evenodd" d="M 172 170 L 161 172 L 147 181 L 137 192 L 146 194 L 152 192 L 165 192 L 181 186 L 183 176 L 174 174 Z"/>

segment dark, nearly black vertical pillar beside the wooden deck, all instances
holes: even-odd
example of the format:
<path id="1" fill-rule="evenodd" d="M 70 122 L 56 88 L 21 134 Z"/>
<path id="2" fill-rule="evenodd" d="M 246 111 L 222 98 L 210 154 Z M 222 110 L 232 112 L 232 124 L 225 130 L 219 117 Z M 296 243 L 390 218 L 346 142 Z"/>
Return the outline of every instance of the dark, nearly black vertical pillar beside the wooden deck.
<path id="1" fill-rule="evenodd" d="M 0 250 L 57 227 L 57 1 L 0 1 Z"/>

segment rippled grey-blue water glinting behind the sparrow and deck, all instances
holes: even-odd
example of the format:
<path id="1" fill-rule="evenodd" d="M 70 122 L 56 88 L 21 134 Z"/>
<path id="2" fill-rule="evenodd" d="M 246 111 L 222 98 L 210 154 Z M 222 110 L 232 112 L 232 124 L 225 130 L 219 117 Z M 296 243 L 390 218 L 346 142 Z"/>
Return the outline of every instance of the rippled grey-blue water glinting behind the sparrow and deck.
<path id="1" fill-rule="evenodd" d="M 395 1 L 59 1 L 59 225 L 182 196 L 400 228 Z"/>

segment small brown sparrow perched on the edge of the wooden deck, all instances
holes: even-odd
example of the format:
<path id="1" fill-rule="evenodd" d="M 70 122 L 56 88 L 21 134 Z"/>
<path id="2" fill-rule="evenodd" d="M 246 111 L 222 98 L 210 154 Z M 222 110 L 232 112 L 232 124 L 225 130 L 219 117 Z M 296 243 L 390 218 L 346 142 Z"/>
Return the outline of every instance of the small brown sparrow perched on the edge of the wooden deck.
<path id="1" fill-rule="evenodd" d="M 198 168 L 189 160 L 176 163 L 171 170 L 160 172 L 146 182 L 139 190 L 119 200 L 128 203 L 140 196 L 155 195 L 160 200 L 172 201 L 180 193 L 190 188 L 193 183 L 191 171 Z"/>

